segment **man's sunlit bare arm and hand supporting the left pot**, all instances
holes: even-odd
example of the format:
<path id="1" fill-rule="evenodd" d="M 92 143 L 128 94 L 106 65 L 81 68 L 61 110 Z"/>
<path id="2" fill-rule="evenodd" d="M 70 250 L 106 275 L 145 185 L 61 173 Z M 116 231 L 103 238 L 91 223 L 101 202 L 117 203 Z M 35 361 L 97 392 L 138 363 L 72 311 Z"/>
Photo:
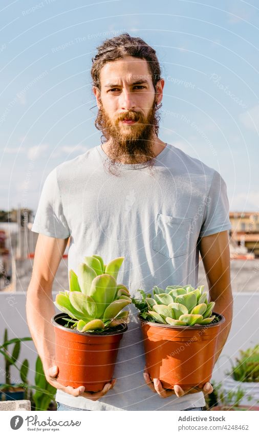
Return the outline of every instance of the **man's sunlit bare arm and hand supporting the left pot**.
<path id="1" fill-rule="evenodd" d="M 51 318 L 55 314 L 52 285 L 67 243 L 68 238 L 57 239 L 39 234 L 32 278 L 27 291 L 27 321 L 48 382 L 55 388 L 73 396 L 82 395 L 96 401 L 113 388 L 115 380 L 106 383 L 102 391 L 90 393 L 84 392 L 83 386 L 76 389 L 71 386 L 64 387 L 56 379 L 58 368 L 55 363 L 55 334 L 51 324 Z"/>

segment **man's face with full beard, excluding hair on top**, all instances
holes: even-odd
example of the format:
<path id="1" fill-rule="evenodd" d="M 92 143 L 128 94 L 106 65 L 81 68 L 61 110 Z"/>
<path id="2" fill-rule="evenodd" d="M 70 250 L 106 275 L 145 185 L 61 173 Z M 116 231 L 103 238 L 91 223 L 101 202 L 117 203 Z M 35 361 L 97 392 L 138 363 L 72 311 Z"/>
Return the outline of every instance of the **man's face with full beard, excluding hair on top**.
<path id="1" fill-rule="evenodd" d="M 141 163 L 152 159 L 156 104 L 162 99 L 146 60 L 126 56 L 106 63 L 100 72 L 101 90 L 94 88 L 99 112 L 97 124 L 109 140 L 109 155 L 116 161 Z"/>

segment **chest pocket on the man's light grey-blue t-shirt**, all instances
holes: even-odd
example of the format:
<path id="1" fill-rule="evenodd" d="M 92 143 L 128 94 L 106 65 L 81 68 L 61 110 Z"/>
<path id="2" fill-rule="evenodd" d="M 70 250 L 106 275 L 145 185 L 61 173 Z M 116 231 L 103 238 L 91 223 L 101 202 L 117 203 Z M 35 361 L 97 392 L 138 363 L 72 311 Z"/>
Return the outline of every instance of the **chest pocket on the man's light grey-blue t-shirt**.
<path id="1" fill-rule="evenodd" d="M 191 220 L 158 214 L 153 249 L 169 258 L 187 254 Z"/>

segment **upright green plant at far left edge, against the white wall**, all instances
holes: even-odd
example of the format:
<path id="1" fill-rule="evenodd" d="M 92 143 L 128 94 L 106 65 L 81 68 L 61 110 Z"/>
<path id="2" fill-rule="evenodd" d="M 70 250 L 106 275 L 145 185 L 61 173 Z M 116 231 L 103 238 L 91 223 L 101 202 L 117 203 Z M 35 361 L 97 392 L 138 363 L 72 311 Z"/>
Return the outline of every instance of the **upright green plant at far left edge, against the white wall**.
<path id="1" fill-rule="evenodd" d="M 14 389 L 15 387 L 23 388 L 23 384 L 12 384 L 13 377 L 11 375 L 11 366 L 16 368 L 20 373 L 21 381 L 25 384 L 27 383 L 27 373 L 29 362 L 27 359 L 23 361 L 20 367 L 17 365 L 17 361 L 20 354 L 20 343 L 26 340 L 32 340 L 31 337 L 21 337 L 8 340 L 8 332 L 5 329 L 4 332 L 4 343 L 0 345 L 0 353 L 5 359 L 5 384 L 0 386 L 0 390 Z M 12 352 L 9 351 L 9 346 L 13 344 Z"/>

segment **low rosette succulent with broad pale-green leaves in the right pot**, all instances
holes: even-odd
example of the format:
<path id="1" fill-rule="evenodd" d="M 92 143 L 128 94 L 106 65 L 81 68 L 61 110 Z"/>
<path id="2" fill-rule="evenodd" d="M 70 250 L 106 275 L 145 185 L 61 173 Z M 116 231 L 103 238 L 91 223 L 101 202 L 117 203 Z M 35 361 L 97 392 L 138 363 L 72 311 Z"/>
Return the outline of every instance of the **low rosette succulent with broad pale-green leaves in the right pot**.
<path id="1" fill-rule="evenodd" d="M 167 286 L 165 290 L 155 286 L 153 297 L 139 290 L 141 299 L 133 298 L 141 317 L 159 324 L 170 326 L 194 326 L 215 323 L 218 318 L 212 315 L 215 305 L 208 302 L 204 286 L 197 289 L 190 285 Z"/>

